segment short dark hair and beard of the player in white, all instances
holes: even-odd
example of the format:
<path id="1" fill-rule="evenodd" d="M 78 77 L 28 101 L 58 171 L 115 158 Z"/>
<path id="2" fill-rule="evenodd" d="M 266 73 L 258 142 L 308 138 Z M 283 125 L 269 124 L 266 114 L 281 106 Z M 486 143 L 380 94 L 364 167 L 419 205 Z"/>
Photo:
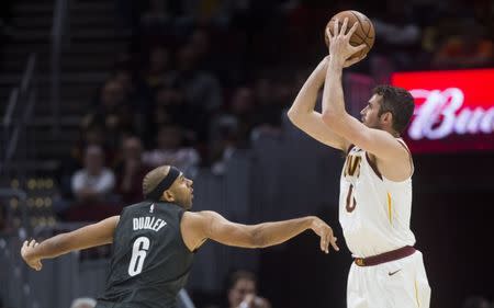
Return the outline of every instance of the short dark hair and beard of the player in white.
<path id="1" fill-rule="evenodd" d="M 382 84 L 372 91 L 382 96 L 378 116 L 391 112 L 393 115 L 393 129 L 402 134 L 414 114 L 415 103 L 412 94 L 403 88 Z"/>

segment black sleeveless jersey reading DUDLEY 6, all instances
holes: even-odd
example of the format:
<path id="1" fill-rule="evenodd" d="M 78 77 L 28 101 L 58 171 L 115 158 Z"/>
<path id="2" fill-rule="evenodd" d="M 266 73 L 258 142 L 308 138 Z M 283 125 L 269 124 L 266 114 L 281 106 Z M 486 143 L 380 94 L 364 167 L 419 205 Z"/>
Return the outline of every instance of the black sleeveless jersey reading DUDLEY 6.
<path id="1" fill-rule="evenodd" d="M 142 202 L 124 208 L 106 289 L 97 307 L 176 307 L 193 259 L 180 232 L 182 214 L 171 203 Z"/>

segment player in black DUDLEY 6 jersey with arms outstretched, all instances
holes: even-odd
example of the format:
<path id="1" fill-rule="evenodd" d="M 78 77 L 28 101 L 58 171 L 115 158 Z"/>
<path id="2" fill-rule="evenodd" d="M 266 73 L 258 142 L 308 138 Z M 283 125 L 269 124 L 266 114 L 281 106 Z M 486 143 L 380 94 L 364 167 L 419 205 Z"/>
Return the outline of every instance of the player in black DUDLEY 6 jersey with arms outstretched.
<path id="1" fill-rule="evenodd" d="M 40 244 L 24 242 L 21 254 L 34 270 L 43 259 L 74 250 L 113 243 L 106 288 L 97 308 L 176 307 L 186 285 L 195 251 L 207 240 L 243 248 L 282 243 L 307 229 L 321 237 L 321 250 L 335 250 L 333 230 L 317 217 L 242 225 L 211 210 L 189 212 L 192 181 L 175 167 L 151 170 L 143 180 L 145 201 L 98 224 L 61 233 Z"/>

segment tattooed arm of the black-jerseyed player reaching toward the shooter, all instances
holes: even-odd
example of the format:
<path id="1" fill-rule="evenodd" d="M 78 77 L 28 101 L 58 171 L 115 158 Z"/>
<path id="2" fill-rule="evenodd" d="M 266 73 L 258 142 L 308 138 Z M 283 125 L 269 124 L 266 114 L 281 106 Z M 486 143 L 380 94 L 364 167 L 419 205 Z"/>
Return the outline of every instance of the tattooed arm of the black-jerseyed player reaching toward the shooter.
<path id="1" fill-rule="evenodd" d="M 312 229 L 321 237 L 322 251 L 328 253 L 329 244 L 338 250 L 333 229 L 314 216 L 258 225 L 242 225 L 232 223 L 215 212 L 204 210 L 183 214 L 181 225 L 182 237 L 192 251 L 206 239 L 227 246 L 265 248 L 285 242 L 307 229 Z"/>

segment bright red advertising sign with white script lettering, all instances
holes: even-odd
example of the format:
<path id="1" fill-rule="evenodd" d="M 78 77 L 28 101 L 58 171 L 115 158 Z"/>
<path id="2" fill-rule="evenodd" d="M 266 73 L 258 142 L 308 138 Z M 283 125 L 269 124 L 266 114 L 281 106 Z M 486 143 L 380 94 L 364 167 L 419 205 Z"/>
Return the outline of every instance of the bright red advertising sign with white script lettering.
<path id="1" fill-rule="evenodd" d="M 494 150 L 494 69 L 396 72 L 392 84 L 415 98 L 413 151 Z"/>

